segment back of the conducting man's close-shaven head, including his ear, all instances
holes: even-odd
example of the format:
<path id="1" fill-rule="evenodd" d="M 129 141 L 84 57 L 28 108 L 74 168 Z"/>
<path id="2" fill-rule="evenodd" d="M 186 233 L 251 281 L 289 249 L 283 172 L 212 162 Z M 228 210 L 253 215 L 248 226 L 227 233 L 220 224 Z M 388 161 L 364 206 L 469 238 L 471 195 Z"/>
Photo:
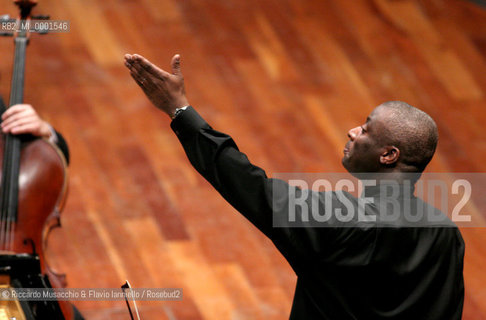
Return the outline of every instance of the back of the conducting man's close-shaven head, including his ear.
<path id="1" fill-rule="evenodd" d="M 384 143 L 400 150 L 404 171 L 422 172 L 432 159 L 439 134 L 435 121 L 425 112 L 402 101 L 378 106 L 384 124 Z M 375 112 L 373 111 L 373 112 Z"/>

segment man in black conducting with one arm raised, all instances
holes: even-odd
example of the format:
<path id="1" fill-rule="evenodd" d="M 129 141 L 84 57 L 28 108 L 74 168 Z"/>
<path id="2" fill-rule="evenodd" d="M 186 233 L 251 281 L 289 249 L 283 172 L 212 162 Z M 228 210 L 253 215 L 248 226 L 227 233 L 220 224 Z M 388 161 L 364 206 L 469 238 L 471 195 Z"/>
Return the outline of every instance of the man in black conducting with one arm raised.
<path id="1" fill-rule="evenodd" d="M 179 55 L 172 58 L 172 72 L 136 54 L 126 55 L 125 65 L 149 100 L 173 119 L 171 127 L 195 169 L 292 266 L 298 279 L 290 319 L 461 319 L 464 242 L 449 220 L 410 223 L 403 210 L 385 219 L 390 216 L 385 203 L 366 205 L 366 215 L 375 219 L 364 222 L 332 216 L 326 227 L 274 227 L 275 219 L 287 219 L 290 198 L 304 190 L 267 178 L 230 136 L 213 130 L 189 106 Z M 435 152 L 438 133 L 430 116 L 404 102 L 386 102 L 348 137 L 346 170 L 358 177 L 387 174 L 387 180 L 398 181 L 400 200 L 410 210 L 442 214 L 414 196 L 413 183 L 405 183 L 408 175 L 415 182 Z M 365 188 L 366 197 L 382 203 L 380 187 L 379 181 Z M 348 193 L 316 194 L 322 208 L 328 202 L 343 210 L 359 207 Z"/>

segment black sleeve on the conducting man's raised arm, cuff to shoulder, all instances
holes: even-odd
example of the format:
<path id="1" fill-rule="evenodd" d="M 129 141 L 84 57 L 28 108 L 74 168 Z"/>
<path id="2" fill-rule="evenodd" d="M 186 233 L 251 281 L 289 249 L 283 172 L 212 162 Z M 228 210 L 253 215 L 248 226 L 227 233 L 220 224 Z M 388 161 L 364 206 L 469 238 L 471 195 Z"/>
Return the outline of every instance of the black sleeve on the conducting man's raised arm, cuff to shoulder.
<path id="1" fill-rule="evenodd" d="M 287 214 L 289 194 L 300 192 L 284 181 L 268 178 L 238 150 L 233 139 L 213 130 L 188 107 L 171 123 L 194 168 L 243 216 L 269 237 L 290 265 L 299 264 L 315 252 L 315 228 L 274 227 L 274 217 Z"/>

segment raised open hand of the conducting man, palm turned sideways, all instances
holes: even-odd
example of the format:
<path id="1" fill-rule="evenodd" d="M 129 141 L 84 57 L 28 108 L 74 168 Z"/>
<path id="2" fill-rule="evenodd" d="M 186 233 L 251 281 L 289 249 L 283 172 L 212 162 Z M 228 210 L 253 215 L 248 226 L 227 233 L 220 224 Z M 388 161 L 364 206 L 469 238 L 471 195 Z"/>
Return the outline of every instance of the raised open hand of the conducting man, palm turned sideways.
<path id="1" fill-rule="evenodd" d="M 189 105 L 180 61 L 180 56 L 176 54 L 171 62 L 172 73 L 169 73 L 138 54 L 125 55 L 125 66 L 132 78 L 154 106 L 170 117 L 174 117 L 177 108 Z"/>

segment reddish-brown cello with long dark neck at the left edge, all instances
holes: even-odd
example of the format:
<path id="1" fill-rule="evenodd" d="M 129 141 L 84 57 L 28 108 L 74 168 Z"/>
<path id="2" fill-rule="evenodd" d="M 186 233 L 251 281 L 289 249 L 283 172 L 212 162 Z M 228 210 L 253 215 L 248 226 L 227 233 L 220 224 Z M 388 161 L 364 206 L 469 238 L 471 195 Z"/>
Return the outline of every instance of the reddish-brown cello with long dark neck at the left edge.
<path id="1" fill-rule="evenodd" d="M 35 0 L 15 0 L 19 25 L 28 25 Z M 9 106 L 23 103 L 29 28 L 14 34 L 15 56 Z M 67 164 L 46 139 L 3 134 L 0 139 L 0 286 L 63 288 L 65 276 L 47 263 L 49 232 L 60 227 L 67 194 Z M 73 319 L 68 301 L 16 301 L 0 312 L 16 319 Z M 9 313 L 10 312 L 10 313 Z"/>

